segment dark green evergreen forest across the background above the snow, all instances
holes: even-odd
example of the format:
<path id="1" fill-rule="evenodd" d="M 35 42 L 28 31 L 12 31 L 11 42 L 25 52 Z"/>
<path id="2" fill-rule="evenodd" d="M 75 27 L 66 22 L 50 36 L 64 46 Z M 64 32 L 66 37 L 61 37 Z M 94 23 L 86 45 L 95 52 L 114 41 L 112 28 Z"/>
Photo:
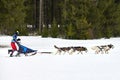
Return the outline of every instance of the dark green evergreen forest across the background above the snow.
<path id="1" fill-rule="evenodd" d="M 120 36 L 120 0 L 0 0 L 0 34 L 69 39 Z"/>

